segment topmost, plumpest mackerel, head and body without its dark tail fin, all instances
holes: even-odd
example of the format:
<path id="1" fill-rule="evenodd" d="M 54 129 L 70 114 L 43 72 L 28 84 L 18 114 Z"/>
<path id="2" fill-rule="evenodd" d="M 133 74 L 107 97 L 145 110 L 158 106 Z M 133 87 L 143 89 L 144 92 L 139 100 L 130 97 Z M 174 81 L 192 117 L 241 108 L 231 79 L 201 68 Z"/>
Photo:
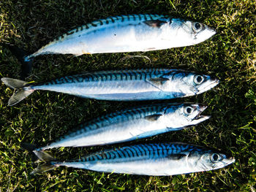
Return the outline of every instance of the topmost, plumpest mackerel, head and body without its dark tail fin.
<path id="1" fill-rule="evenodd" d="M 27 55 L 29 61 L 45 54 L 94 54 L 162 50 L 196 45 L 216 32 L 203 23 L 167 15 L 121 15 L 80 26 Z M 198 25 L 198 24 L 197 24 Z"/>

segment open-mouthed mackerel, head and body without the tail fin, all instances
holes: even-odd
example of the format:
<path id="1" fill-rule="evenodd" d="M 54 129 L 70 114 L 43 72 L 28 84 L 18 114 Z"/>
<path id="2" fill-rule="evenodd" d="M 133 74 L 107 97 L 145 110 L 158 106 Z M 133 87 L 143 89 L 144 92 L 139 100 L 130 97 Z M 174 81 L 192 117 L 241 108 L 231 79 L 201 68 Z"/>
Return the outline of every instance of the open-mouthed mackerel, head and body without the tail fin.
<path id="1" fill-rule="evenodd" d="M 189 113 L 186 111 L 188 109 Z M 110 145 L 151 137 L 168 131 L 178 131 L 210 118 L 200 115 L 204 110 L 206 110 L 206 105 L 192 103 L 149 104 L 121 110 L 82 123 L 75 131 L 34 151 L 54 147 Z"/>

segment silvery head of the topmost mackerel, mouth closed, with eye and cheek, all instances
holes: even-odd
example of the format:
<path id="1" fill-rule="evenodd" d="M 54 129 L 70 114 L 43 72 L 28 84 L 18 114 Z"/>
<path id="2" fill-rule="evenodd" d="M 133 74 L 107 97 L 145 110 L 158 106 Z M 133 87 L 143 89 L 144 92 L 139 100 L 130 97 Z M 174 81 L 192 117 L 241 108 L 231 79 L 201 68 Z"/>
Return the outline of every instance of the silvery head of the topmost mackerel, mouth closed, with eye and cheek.
<path id="1" fill-rule="evenodd" d="M 206 24 L 194 22 L 191 20 L 183 21 L 182 30 L 184 30 L 187 34 L 186 39 L 189 45 L 195 45 L 200 42 L 204 42 L 216 34 L 216 31 L 213 28 L 206 26 Z"/>

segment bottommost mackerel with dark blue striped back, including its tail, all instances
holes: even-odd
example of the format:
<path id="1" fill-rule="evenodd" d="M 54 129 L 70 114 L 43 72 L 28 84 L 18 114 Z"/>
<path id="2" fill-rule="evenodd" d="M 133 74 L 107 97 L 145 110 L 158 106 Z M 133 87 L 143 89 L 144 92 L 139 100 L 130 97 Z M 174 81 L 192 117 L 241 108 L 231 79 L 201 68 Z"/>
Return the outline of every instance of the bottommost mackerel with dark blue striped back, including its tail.
<path id="1" fill-rule="evenodd" d="M 68 166 L 97 172 L 168 176 L 220 169 L 234 161 L 235 158 L 217 150 L 165 142 L 103 150 L 71 161 L 50 161 L 49 166 L 38 166 L 32 174 Z"/>

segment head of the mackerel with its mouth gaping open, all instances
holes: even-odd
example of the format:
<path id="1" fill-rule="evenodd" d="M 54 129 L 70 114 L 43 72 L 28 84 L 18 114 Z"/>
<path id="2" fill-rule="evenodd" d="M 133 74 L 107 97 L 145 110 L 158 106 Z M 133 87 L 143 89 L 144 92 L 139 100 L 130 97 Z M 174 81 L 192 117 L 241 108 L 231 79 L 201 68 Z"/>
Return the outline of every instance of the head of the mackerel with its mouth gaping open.
<path id="1" fill-rule="evenodd" d="M 170 105 L 165 109 L 165 124 L 168 128 L 173 129 L 196 125 L 210 118 L 210 116 L 200 115 L 206 108 L 205 104 Z"/>

